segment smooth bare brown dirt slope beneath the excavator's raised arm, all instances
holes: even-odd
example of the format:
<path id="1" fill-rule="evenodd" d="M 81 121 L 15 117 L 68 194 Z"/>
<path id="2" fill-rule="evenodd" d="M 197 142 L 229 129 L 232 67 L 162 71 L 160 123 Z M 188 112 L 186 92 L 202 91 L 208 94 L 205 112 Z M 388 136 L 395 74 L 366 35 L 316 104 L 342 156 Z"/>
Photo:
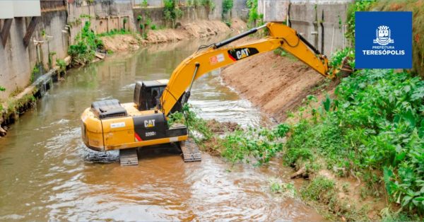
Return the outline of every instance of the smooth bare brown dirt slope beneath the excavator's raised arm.
<path id="1" fill-rule="evenodd" d="M 294 57 L 266 52 L 243 59 L 221 72 L 225 83 L 257 105 L 262 112 L 283 121 L 312 94 L 324 77 Z"/>

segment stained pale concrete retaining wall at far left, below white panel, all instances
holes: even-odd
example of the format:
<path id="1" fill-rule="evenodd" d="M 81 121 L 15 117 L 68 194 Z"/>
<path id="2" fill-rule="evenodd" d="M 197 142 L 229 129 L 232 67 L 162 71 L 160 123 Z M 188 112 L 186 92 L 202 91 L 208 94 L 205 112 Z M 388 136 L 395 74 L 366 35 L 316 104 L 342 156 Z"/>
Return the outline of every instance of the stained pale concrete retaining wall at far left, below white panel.
<path id="1" fill-rule="evenodd" d="M 62 32 L 66 25 L 66 8 L 42 11 L 28 47 L 25 47 L 23 37 L 30 19 L 13 18 L 6 45 L 0 44 L 0 86 L 6 88 L 6 91 L 0 92 L 0 99 L 6 99 L 14 91 L 28 86 L 31 71 L 37 62 L 48 69 L 49 52 L 56 52 L 52 56 L 53 64 L 57 58 L 67 56 L 68 34 Z"/>

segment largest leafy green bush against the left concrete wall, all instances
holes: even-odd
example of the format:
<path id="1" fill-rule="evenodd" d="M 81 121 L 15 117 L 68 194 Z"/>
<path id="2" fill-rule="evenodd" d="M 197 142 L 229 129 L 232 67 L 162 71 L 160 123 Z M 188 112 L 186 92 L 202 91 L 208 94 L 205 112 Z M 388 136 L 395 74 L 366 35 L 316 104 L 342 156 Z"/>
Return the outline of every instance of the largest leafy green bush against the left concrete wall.
<path id="1" fill-rule="evenodd" d="M 95 58 L 95 52 L 103 49 L 104 45 L 100 37 L 90 29 L 90 22 L 86 22 L 75 37 L 75 45 L 69 45 L 68 54 L 72 57 L 71 64 L 83 65 L 90 63 Z"/>

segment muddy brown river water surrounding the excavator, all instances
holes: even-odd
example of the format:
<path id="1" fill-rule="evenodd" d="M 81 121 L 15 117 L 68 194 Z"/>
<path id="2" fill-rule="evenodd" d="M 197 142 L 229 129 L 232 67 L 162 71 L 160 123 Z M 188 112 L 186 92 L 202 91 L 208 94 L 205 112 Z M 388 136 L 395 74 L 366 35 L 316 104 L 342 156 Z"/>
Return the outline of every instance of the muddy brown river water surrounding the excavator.
<path id="1" fill-rule="evenodd" d="M 321 221 L 300 200 L 271 193 L 270 178 L 290 182 L 281 160 L 232 167 L 203 153 L 201 162 L 184 163 L 164 149 L 143 151 L 138 166 L 121 167 L 117 152 L 83 145 L 79 117 L 92 101 L 131 101 L 135 81 L 169 78 L 199 44 L 213 41 L 154 45 L 68 71 L 0 139 L 0 221 Z M 204 118 L 266 122 L 217 73 L 196 81 L 190 103 Z"/>

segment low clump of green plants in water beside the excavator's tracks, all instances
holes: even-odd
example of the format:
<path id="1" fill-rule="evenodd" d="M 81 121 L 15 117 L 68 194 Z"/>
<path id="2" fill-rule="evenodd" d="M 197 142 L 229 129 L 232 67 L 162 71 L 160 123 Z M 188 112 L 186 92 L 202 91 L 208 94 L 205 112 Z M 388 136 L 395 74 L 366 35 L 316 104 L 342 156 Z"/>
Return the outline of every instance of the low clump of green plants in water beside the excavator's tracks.
<path id="1" fill-rule="evenodd" d="M 274 129 L 236 129 L 228 132 L 223 138 L 214 134 L 208 127 L 208 122 L 196 116 L 196 113 L 186 105 L 183 112 L 175 112 L 168 120 L 174 123 L 186 124 L 191 136 L 199 146 L 205 150 L 218 151 L 230 163 L 250 163 L 251 158 L 255 165 L 268 163 L 271 158 L 282 150 L 281 140 L 289 131 L 288 125 L 279 124 Z M 196 133 L 193 133 L 196 132 Z M 200 136 L 198 136 L 200 134 Z"/>

